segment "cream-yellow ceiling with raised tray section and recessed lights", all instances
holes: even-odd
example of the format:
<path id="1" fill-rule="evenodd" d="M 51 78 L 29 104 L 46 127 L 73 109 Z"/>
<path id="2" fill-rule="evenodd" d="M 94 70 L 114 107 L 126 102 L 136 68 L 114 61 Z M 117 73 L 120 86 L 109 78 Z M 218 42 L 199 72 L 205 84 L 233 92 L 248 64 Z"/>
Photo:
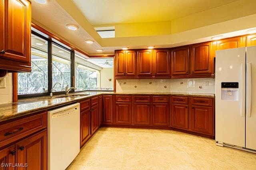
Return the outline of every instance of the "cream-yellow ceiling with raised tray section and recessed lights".
<path id="1" fill-rule="evenodd" d="M 246 34 L 244 30 L 256 27 L 255 8 L 255 0 L 48 0 L 45 5 L 32 0 L 32 22 L 90 56 L 114 55 L 114 50 L 122 47 L 143 49 L 154 45 L 168 48 L 211 41 L 213 35 L 221 34 L 225 38 Z M 204 22 L 197 16 L 204 17 Z M 187 18 L 194 20 L 185 20 Z M 116 25 L 117 32 L 118 25 L 122 24 L 145 25 L 164 21 L 170 21 L 178 28 L 180 25 L 185 31 L 156 35 L 144 35 L 143 31 L 138 31 L 136 36 L 102 39 L 94 29 L 96 26 Z M 70 23 L 78 25 L 78 30 L 67 29 L 65 25 Z M 129 29 L 125 31 L 127 33 Z M 86 39 L 95 43 L 87 44 Z M 97 52 L 96 49 L 104 51 Z"/>

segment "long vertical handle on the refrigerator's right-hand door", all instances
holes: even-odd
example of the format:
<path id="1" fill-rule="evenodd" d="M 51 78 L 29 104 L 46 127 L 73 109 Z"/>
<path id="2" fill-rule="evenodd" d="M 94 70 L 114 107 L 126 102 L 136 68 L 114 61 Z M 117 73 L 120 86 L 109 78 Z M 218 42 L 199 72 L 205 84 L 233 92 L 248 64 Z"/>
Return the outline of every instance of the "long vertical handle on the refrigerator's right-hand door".
<path id="1" fill-rule="evenodd" d="M 252 70 L 251 63 L 246 63 L 247 82 L 246 82 L 246 117 L 251 117 L 252 104 Z"/>

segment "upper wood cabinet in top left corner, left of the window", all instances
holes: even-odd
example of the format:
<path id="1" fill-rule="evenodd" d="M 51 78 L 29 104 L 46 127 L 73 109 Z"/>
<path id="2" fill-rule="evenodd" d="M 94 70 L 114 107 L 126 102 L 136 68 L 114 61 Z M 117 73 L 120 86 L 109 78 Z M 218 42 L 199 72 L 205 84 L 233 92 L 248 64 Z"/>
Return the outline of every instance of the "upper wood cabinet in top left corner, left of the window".
<path id="1" fill-rule="evenodd" d="M 0 69 L 31 71 L 31 3 L 0 1 Z"/>

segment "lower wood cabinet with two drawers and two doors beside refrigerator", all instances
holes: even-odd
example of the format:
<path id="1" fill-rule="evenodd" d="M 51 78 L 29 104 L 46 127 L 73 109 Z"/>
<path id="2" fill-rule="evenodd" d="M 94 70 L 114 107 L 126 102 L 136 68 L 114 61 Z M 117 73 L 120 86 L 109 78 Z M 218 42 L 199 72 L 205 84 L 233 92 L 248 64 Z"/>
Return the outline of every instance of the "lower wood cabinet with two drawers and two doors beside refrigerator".
<path id="1" fill-rule="evenodd" d="M 171 127 L 214 137 L 214 98 L 172 96 Z"/>

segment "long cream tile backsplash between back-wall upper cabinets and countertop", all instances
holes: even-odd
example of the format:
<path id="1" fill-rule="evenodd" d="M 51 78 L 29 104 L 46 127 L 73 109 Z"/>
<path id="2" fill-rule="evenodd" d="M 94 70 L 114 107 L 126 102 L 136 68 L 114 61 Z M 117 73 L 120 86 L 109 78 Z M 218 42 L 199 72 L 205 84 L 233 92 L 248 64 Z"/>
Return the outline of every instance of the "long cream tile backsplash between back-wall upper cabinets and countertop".
<path id="1" fill-rule="evenodd" d="M 118 79 L 116 92 L 187 92 L 214 94 L 214 78 Z"/>

